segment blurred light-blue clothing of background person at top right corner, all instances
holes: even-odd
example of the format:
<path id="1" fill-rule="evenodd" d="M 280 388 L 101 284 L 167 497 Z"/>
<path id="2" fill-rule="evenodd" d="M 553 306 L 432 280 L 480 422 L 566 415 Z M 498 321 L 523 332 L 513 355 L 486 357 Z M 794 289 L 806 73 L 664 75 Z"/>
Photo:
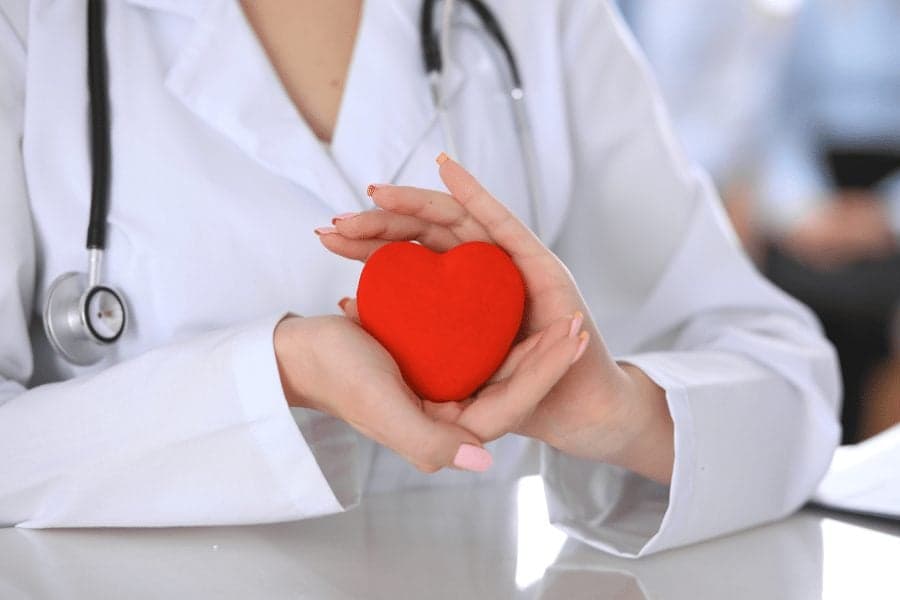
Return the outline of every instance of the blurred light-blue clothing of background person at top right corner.
<path id="1" fill-rule="evenodd" d="M 900 154 L 900 2 L 808 0 L 769 131 L 760 208 L 775 231 L 828 201 L 828 149 Z M 878 191 L 900 234 L 900 176 Z"/>

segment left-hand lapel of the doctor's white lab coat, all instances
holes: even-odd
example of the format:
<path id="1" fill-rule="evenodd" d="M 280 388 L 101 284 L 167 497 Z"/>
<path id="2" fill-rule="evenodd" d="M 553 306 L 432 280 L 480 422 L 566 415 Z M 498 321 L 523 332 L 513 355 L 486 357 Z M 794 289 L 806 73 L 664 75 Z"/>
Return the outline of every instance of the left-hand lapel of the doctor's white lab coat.
<path id="1" fill-rule="evenodd" d="M 169 70 L 166 86 L 268 170 L 306 188 L 335 211 L 359 210 L 364 195 L 346 185 L 291 102 L 238 2 L 207 4 Z"/>

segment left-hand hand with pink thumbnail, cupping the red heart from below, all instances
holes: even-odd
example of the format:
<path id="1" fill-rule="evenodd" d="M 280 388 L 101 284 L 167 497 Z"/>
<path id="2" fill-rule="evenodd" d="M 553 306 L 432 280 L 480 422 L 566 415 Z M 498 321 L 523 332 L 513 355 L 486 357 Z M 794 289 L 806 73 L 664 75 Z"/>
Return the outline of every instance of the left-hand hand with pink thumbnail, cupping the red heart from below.
<path id="1" fill-rule="evenodd" d="M 482 390 L 482 397 L 501 405 L 511 397 L 539 401 L 578 358 L 571 327 L 571 318 L 557 319 L 527 347 L 518 346 L 517 364 L 504 365 L 509 376 Z M 346 421 L 426 473 L 490 467 L 478 436 L 427 414 L 390 354 L 355 321 L 288 317 L 275 329 L 275 354 L 291 406 Z"/>

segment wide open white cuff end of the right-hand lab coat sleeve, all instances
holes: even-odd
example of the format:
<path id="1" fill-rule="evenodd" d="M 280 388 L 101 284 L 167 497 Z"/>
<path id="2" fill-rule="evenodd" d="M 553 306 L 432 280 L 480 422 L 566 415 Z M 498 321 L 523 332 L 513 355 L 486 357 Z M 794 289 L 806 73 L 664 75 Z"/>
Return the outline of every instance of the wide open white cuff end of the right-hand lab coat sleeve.
<path id="1" fill-rule="evenodd" d="M 619 359 L 666 392 L 675 463 L 668 489 L 619 467 L 546 449 L 551 520 L 607 552 L 639 557 L 779 518 L 812 493 L 836 441 L 825 411 L 736 354 Z M 826 418 L 828 417 L 828 418 Z"/>

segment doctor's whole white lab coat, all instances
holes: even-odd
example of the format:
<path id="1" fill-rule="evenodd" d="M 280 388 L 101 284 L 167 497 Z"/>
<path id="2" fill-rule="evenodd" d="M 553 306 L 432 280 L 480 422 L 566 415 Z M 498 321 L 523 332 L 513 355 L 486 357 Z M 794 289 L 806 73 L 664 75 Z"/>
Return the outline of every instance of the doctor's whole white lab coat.
<path id="1" fill-rule="evenodd" d="M 481 478 L 421 475 L 312 411 L 295 422 L 272 349 L 286 311 L 333 313 L 355 290 L 359 266 L 315 226 L 368 207 L 371 182 L 441 185 L 418 0 L 365 3 L 330 148 L 237 2 L 108 4 L 104 279 L 132 321 L 108 362 L 81 369 L 48 350 L 39 315 L 52 280 L 86 268 L 84 3 L 0 0 L 0 523 L 271 522 Z M 546 241 L 675 423 L 668 487 L 542 448 L 553 520 L 632 556 L 793 511 L 838 439 L 835 359 L 814 319 L 737 248 L 605 2 L 491 4 L 531 94 Z M 445 83 L 460 159 L 524 218 L 504 71 L 474 19 L 458 21 Z M 495 444 L 493 476 L 526 447 Z"/>

